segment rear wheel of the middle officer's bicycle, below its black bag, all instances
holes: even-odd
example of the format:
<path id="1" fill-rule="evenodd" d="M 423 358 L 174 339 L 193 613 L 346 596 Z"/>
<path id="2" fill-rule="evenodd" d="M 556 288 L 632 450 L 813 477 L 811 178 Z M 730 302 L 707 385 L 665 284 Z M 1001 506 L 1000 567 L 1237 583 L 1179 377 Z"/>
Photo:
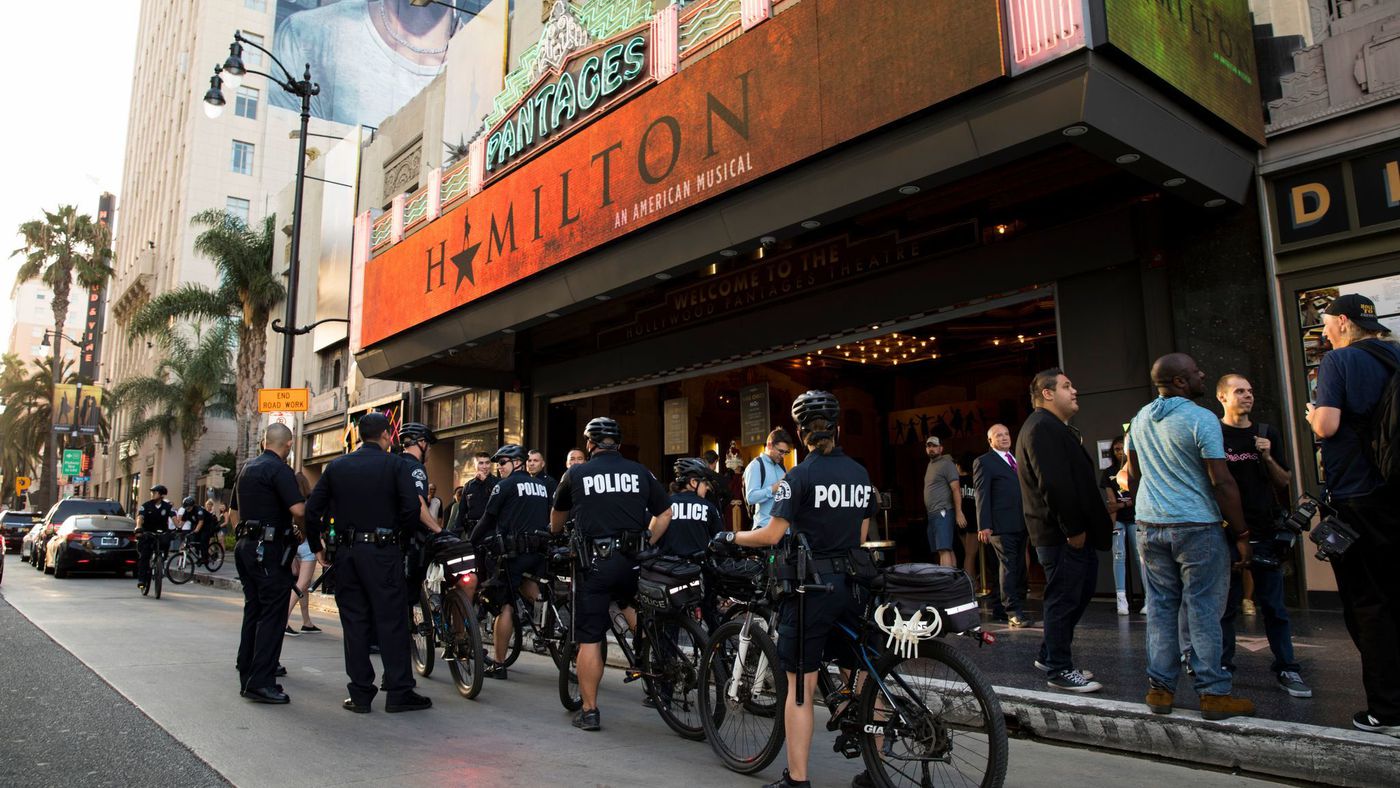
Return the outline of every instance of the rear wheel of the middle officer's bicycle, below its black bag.
<path id="1" fill-rule="evenodd" d="M 700 658 L 704 630 L 689 616 L 652 620 L 638 626 L 637 666 L 657 714 L 678 735 L 704 739 L 700 722 Z"/>

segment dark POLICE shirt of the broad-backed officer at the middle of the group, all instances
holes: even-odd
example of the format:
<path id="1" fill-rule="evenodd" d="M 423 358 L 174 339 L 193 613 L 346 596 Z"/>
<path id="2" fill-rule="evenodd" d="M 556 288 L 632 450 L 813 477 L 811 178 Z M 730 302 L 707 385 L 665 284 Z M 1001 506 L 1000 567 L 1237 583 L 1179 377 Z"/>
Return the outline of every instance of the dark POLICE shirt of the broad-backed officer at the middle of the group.
<path id="1" fill-rule="evenodd" d="M 608 539 L 645 530 L 652 515 L 666 511 L 666 490 L 640 462 L 603 451 L 564 472 L 554 508 L 573 511 L 584 536 Z"/>

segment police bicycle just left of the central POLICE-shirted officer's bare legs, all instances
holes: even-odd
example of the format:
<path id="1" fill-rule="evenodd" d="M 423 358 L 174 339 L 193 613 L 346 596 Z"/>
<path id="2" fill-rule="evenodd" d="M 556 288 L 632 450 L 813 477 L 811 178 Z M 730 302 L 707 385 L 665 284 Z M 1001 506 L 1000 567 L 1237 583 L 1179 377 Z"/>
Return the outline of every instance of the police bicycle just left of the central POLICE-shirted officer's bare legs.
<path id="1" fill-rule="evenodd" d="M 559 666 L 563 659 L 564 641 L 573 626 L 573 550 L 567 537 L 546 532 L 521 533 L 514 537 L 494 535 L 486 540 L 483 550 L 496 561 L 491 582 L 477 593 L 477 620 L 486 642 L 496 642 L 496 616 L 501 607 L 511 605 L 511 642 L 505 648 L 503 666 L 510 668 L 521 655 L 525 630 L 531 634 L 531 647 L 536 654 L 547 655 Z M 535 581 L 539 599 L 525 599 L 518 588 L 508 588 L 505 561 L 522 554 L 539 554 L 546 558 L 542 574 L 524 572 L 524 579 Z M 510 600 L 510 602 L 507 602 Z"/>

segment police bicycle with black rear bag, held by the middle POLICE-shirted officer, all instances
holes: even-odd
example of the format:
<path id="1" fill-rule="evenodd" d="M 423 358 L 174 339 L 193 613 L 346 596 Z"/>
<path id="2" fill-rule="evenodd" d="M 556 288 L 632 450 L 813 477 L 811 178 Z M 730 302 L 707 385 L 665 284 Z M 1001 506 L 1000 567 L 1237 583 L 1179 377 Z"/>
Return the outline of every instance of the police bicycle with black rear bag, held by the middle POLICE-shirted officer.
<path id="1" fill-rule="evenodd" d="M 577 549 L 577 547 L 575 547 Z M 679 736 L 700 740 L 700 658 L 706 633 L 700 624 L 700 567 L 682 558 L 638 556 L 637 630 L 612 606 L 609 630 L 627 661 L 623 683 L 641 680 L 648 701 Z M 608 637 L 599 641 L 603 663 Z M 578 644 L 570 637 L 559 669 L 559 700 L 568 711 L 582 708 L 578 689 Z"/>

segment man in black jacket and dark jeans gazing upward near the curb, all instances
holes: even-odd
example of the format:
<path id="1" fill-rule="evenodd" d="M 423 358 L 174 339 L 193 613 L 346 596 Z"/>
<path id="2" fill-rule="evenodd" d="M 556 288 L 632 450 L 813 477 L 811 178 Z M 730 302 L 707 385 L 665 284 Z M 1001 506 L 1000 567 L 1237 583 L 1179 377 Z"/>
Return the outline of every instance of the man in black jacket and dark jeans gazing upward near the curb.
<path id="1" fill-rule="evenodd" d="M 1046 570 L 1044 640 L 1036 668 L 1046 672 L 1046 684 L 1053 689 L 1095 693 L 1103 684 L 1075 669 L 1070 647 L 1098 582 L 1095 550 L 1109 549 L 1113 523 L 1093 460 L 1070 427 L 1079 411 L 1070 378 L 1057 368 L 1037 372 L 1030 381 L 1030 403 L 1035 413 L 1021 427 L 1016 465 L 1030 543 Z"/>

